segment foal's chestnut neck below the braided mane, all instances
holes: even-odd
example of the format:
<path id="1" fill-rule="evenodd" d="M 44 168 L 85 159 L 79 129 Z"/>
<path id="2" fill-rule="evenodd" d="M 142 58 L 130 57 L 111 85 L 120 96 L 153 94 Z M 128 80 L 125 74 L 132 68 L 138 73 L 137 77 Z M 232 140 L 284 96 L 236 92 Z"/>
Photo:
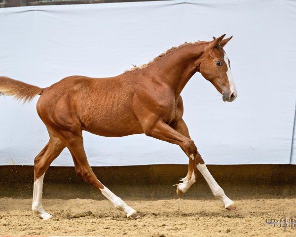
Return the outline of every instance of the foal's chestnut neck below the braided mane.
<path id="1" fill-rule="evenodd" d="M 176 49 L 151 65 L 151 71 L 157 75 L 153 76 L 173 88 L 175 97 L 178 98 L 188 80 L 198 71 L 203 49 L 204 47 L 198 44 Z"/>

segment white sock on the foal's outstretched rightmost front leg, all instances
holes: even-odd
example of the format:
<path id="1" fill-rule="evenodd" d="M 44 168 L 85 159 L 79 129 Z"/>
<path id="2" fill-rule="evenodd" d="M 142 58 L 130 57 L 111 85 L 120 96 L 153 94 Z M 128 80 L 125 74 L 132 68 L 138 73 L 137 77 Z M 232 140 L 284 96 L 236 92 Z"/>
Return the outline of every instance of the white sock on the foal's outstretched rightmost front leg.
<path id="1" fill-rule="evenodd" d="M 207 166 L 205 164 L 197 164 L 197 169 L 200 171 L 202 176 L 207 181 L 208 185 L 210 186 L 210 189 L 212 190 L 212 193 L 216 198 L 218 198 L 224 205 L 225 208 L 234 204 L 232 200 L 230 200 L 225 194 L 222 188 L 218 185 L 216 180 L 211 175 L 210 171 L 208 170 Z"/>

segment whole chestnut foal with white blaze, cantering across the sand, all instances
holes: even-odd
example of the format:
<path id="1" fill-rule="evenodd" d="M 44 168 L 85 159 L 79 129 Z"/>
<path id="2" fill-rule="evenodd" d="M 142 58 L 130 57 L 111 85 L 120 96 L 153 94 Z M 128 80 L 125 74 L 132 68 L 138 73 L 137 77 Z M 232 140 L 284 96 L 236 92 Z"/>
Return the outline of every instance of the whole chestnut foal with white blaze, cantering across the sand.
<path id="1" fill-rule="evenodd" d="M 145 133 L 147 136 L 177 144 L 189 158 L 188 173 L 177 186 L 180 196 L 195 182 L 196 169 L 206 179 L 213 194 L 228 210 L 234 202 L 207 169 L 183 120 L 180 93 L 196 73 L 209 80 L 222 94 L 223 101 L 233 101 L 237 92 L 229 60 L 223 46 L 231 39 L 185 43 L 173 47 L 140 68 L 135 67 L 113 78 L 73 76 L 47 87 L 0 77 L 0 94 L 24 101 L 41 95 L 37 113 L 49 133 L 49 141 L 35 158 L 33 212 L 44 220 L 52 216 L 44 211 L 42 185 L 45 171 L 67 147 L 73 157 L 76 174 L 99 189 L 127 217 L 140 217 L 136 210 L 114 195 L 96 177 L 83 148 L 82 130 L 120 137 Z"/>

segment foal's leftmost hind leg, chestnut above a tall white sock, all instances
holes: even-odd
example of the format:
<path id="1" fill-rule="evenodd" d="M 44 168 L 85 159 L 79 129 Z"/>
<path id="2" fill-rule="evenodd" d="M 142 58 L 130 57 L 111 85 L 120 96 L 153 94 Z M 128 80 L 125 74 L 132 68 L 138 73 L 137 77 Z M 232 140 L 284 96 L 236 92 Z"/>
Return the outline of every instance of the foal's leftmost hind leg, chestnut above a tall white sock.
<path id="1" fill-rule="evenodd" d="M 60 155 L 65 147 L 66 146 L 59 138 L 50 135 L 49 142 L 34 160 L 34 191 L 32 210 L 43 220 L 52 218 L 52 215 L 48 214 L 42 206 L 42 188 L 44 174 L 51 162 Z"/>

